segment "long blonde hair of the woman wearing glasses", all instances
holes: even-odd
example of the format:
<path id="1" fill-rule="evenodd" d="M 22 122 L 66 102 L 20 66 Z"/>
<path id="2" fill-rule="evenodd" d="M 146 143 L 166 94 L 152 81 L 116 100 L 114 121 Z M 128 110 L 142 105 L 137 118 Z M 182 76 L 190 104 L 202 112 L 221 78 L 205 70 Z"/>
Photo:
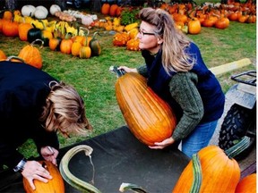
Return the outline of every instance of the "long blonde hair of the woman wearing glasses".
<path id="1" fill-rule="evenodd" d="M 143 8 L 139 17 L 142 21 L 156 27 L 156 37 L 163 38 L 162 63 L 165 71 L 190 71 L 195 61 L 185 53 L 185 47 L 190 45 L 190 39 L 176 29 L 172 16 L 162 10 L 151 7 Z"/>

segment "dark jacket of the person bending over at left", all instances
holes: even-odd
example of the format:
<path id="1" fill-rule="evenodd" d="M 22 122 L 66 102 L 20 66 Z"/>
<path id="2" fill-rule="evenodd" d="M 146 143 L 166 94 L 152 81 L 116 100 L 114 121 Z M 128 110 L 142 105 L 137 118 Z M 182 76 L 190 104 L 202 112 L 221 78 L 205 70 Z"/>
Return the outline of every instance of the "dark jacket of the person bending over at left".
<path id="1" fill-rule="evenodd" d="M 27 139 L 40 147 L 59 148 L 56 132 L 39 122 L 42 106 L 56 80 L 26 63 L 0 62 L 0 165 L 13 168 L 23 155 L 17 151 Z"/>

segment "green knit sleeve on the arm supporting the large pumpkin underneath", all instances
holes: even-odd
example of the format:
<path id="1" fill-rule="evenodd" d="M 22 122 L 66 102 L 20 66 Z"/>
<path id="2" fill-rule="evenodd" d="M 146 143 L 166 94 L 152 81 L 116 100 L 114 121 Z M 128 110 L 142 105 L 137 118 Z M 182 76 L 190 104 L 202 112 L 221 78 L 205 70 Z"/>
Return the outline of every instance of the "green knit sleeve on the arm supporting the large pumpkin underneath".
<path id="1" fill-rule="evenodd" d="M 193 72 L 178 72 L 169 83 L 171 96 L 181 106 L 183 116 L 177 122 L 172 138 L 185 138 L 202 120 L 202 98 L 196 88 L 197 75 Z"/>

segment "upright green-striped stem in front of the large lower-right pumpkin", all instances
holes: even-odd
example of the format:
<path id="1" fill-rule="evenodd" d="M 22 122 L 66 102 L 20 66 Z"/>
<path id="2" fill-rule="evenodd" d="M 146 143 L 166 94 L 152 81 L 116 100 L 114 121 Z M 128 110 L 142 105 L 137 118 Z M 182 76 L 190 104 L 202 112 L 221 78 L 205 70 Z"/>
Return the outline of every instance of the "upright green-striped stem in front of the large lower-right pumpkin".
<path id="1" fill-rule="evenodd" d="M 198 154 L 193 155 L 193 184 L 190 193 L 200 192 L 202 185 L 202 167 Z"/>

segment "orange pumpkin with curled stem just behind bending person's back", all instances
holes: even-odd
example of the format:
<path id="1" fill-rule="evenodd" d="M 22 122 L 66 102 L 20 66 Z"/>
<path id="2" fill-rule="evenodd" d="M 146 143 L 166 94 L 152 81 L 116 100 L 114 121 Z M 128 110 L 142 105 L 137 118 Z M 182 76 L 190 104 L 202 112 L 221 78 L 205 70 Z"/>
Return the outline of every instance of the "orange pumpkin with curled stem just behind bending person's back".
<path id="1" fill-rule="evenodd" d="M 39 49 L 34 46 L 36 42 L 41 42 L 40 48 L 44 45 L 44 42 L 41 39 L 36 39 L 31 42 L 30 45 L 24 46 L 20 51 L 18 57 L 22 58 L 25 63 L 28 63 L 38 69 L 42 68 L 42 57 L 39 53 Z"/>

